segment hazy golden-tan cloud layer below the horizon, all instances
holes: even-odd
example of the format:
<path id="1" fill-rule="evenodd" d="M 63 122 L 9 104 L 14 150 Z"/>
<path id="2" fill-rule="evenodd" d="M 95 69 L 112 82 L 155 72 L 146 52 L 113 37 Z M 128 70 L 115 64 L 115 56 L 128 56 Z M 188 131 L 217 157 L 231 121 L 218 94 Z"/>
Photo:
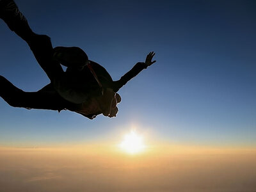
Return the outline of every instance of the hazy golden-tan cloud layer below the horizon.
<path id="1" fill-rule="evenodd" d="M 255 160 L 254 150 L 127 156 L 99 147 L 0 149 L 0 186 L 5 192 L 255 191 Z"/>

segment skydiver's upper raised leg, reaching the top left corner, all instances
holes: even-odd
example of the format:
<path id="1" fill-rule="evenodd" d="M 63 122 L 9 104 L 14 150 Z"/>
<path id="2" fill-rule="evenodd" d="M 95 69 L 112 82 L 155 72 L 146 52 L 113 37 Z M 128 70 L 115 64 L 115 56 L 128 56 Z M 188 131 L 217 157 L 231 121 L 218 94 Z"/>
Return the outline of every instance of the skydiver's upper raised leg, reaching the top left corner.
<path id="1" fill-rule="evenodd" d="M 52 58 L 53 49 L 49 36 L 34 33 L 29 27 L 26 17 L 19 11 L 13 0 L 0 0 L 0 18 L 6 22 L 12 31 L 28 43 L 40 67 L 43 68 L 51 81 L 63 74 L 60 63 Z"/>

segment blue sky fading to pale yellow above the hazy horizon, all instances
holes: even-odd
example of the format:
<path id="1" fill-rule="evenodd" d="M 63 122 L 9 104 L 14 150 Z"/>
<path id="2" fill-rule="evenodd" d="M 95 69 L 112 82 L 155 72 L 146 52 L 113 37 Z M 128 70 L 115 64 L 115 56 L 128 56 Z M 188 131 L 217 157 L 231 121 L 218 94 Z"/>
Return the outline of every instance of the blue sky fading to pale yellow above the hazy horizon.
<path id="1" fill-rule="evenodd" d="M 256 147 L 255 1 L 17 0 L 52 45 L 81 47 L 119 79 L 148 52 L 157 62 L 122 90 L 116 118 L 12 108 L 0 99 L 0 145 L 148 140 Z M 28 45 L 0 20 L 0 74 L 22 90 L 49 83 Z"/>

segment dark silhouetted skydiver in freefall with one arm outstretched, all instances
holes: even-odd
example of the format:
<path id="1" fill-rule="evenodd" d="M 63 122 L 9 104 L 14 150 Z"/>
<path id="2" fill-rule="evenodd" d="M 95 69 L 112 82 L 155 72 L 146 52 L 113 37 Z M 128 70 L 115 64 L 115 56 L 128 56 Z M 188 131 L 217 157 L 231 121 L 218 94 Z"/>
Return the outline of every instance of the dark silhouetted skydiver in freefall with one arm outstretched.
<path id="1" fill-rule="evenodd" d="M 156 62 L 150 52 L 118 81 L 107 70 L 88 60 L 79 47 L 52 47 L 51 38 L 38 35 L 13 0 L 0 0 L 0 18 L 29 45 L 51 83 L 37 92 L 24 92 L 0 76 L 0 96 L 10 106 L 26 109 L 69 110 L 93 119 L 99 114 L 113 117 L 121 101 L 117 93 L 132 77 Z M 61 65 L 67 67 L 64 71 Z"/>

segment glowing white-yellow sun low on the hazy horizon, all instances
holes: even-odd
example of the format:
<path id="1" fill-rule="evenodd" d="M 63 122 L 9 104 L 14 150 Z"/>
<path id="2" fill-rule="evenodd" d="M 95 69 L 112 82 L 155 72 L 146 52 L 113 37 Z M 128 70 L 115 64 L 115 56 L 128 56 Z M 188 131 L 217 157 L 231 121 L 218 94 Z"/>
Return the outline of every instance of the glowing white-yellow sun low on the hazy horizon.
<path id="1" fill-rule="evenodd" d="M 138 135 L 136 131 L 131 131 L 129 134 L 126 134 L 122 143 L 119 144 L 119 147 L 129 154 L 138 154 L 145 149 L 143 137 Z"/>

